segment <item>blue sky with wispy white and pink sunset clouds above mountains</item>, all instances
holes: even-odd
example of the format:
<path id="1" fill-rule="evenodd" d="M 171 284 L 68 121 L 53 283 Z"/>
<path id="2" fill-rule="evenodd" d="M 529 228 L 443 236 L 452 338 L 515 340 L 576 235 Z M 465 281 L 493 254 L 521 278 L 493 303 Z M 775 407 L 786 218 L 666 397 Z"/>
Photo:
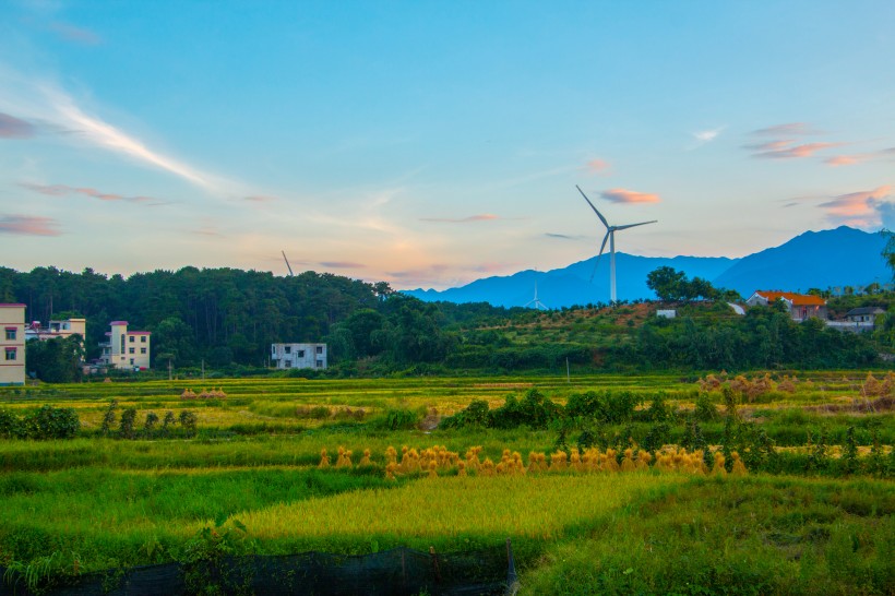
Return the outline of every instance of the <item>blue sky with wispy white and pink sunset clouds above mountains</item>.
<path id="1" fill-rule="evenodd" d="M 895 2 L 0 0 L 0 265 L 443 289 L 895 228 Z"/>

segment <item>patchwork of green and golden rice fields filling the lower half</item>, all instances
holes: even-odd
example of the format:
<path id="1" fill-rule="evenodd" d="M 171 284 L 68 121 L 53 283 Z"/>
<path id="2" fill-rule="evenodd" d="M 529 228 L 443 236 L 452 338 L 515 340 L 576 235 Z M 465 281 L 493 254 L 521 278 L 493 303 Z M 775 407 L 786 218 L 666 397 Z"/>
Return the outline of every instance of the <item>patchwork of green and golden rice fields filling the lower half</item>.
<path id="1" fill-rule="evenodd" d="M 3 389 L 4 419 L 49 404 L 80 427 L 69 439 L 0 439 L 0 565 L 46 580 L 181 560 L 217 523 L 246 528 L 242 551 L 268 555 L 450 551 L 510 537 L 533 594 L 891 593 L 893 388 L 874 374 Z M 205 397 L 184 398 L 188 389 Z M 474 403 L 487 404 L 487 422 L 463 424 Z M 532 408 L 553 414 L 520 418 Z M 671 464 L 679 445 L 705 454 L 703 473 Z M 405 446 L 425 465 L 402 467 Z M 668 464 L 624 473 L 625 450 Z M 712 452 L 729 468 L 737 450 L 747 476 L 711 473 Z M 568 465 L 550 464 L 559 451 Z M 549 469 L 532 467 L 533 454 Z"/>

